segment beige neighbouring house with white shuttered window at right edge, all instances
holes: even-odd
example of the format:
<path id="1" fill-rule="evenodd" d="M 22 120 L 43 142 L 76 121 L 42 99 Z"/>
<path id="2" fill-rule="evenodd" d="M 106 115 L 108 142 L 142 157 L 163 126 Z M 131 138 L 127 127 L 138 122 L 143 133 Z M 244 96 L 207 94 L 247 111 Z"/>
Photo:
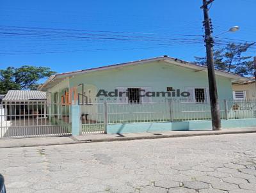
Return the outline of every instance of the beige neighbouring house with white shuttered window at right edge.
<path id="1" fill-rule="evenodd" d="M 232 84 L 234 100 L 256 100 L 256 81 L 234 82 Z"/>

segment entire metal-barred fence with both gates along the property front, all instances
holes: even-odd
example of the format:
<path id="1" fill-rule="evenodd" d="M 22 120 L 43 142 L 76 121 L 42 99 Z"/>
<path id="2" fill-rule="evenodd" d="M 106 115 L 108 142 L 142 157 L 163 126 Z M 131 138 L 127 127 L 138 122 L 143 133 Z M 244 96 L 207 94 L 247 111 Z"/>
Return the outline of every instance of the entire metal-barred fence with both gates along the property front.
<path id="1" fill-rule="evenodd" d="M 83 134 L 104 133 L 116 123 L 211 120 L 211 105 L 182 101 L 79 105 Z M 71 134 L 72 105 L 8 102 L 0 105 L 0 137 Z M 221 119 L 256 118 L 256 101 L 220 101 Z"/>

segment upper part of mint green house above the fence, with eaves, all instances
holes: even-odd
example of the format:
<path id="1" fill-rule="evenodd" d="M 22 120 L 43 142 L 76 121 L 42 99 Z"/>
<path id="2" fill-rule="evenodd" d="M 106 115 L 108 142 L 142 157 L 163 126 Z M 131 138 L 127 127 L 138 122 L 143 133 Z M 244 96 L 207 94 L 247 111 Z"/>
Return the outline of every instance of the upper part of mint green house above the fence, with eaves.
<path id="1" fill-rule="evenodd" d="M 245 80 L 244 77 L 217 71 L 219 99 L 232 100 L 232 82 Z M 89 104 L 106 100 L 121 103 L 164 100 L 209 102 L 207 68 L 169 57 L 57 74 L 40 90 L 49 91 L 53 103 L 63 102 L 66 94 L 72 92 L 80 94 L 80 101 L 84 98 Z M 116 91 L 125 92 L 125 95 L 115 95 Z M 138 92 L 142 96 L 138 96 Z M 163 92 L 169 93 L 164 95 Z"/>

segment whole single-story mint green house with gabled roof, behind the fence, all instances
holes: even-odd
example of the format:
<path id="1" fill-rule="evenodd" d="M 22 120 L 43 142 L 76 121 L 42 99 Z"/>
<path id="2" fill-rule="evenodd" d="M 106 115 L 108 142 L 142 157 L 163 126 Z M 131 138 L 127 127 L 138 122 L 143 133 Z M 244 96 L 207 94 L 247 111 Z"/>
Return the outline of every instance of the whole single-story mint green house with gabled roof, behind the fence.
<path id="1" fill-rule="evenodd" d="M 227 73 L 216 70 L 216 82 L 218 87 L 218 97 L 220 101 L 232 101 L 232 82 L 244 82 L 248 78 L 241 77 L 234 73 Z M 76 72 L 58 73 L 52 75 L 42 86 L 40 91 L 51 93 L 48 98 L 54 105 L 51 112 L 54 114 L 69 114 L 67 107 L 70 104 L 77 103 L 83 105 L 81 111 L 86 121 L 102 122 L 104 112 L 102 104 L 108 102 L 108 120 L 118 121 L 148 121 L 148 120 L 168 120 L 170 117 L 166 104 L 161 107 L 144 105 L 143 110 L 136 104 L 148 104 L 154 102 L 166 102 L 166 100 L 175 100 L 188 102 L 182 104 L 186 107 L 186 112 L 192 119 L 200 119 L 202 110 L 204 118 L 211 119 L 209 104 L 209 86 L 207 78 L 207 68 L 199 66 L 177 58 L 161 56 L 158 58 L 142 59 L 128 63 L 108 65 Z M 142 91 L 142 92 L 141 92 Z M 121 93 L 121 95 L 120 95 Z M 141 94 L 141 95 L 140 95 Z M 133 104 L 129 106 L 111 107 L 110 103 Z M 195 105 L 196 104 L 196 105 Z M 229 104 L 232 108 L 233 104 Z M 63 107 L 65 106 L 65 108 Z M 224 109 L 224 104 L 221 104 Z M 154 109 L 152 109 L 154 108 Z M 158 108 L 158 109 L 157 109 Z M 178 108 L 172 107 L 173 111 Z M 162 111 L 163 110 L 163 111 Z M 115 112 L 114 112 L 115 111 Z M 125 111 L 125 112 L 124 112 Z M 140 117 L 139 113 L 131 112 L 148 112 L 148 116 Z M 152 112 L 154 117 L 149 116 Z M 188 119 L 187 114 L 179 110 L 173 113 L 175 120 Z M 221 111 L 224 117 L 224 110 Z M 234 116 L 230 114 L 230 116 Z M 59 116 L 60 117 L 60 116 Z"/>

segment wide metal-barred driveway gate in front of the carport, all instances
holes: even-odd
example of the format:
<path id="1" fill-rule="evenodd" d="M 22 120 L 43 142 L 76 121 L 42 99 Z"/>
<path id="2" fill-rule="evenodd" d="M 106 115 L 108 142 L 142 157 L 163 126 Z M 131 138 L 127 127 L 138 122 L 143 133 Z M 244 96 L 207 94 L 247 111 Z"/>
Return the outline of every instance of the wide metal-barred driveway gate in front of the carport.
<path id="1" fill-rule="evenodd" d="M 0 109 L 0 137 L 69 135 L 69 106 L 46 102 L 5 102 Z"/>

